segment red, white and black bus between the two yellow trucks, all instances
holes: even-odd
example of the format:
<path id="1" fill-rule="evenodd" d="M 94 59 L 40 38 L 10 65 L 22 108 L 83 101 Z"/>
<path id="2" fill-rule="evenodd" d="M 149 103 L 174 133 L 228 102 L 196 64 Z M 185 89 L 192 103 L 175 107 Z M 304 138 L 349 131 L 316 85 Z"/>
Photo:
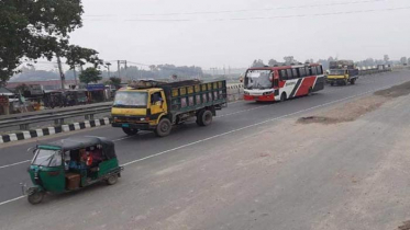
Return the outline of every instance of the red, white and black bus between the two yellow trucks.
<path id="1" fill-rule="evenodd" d="M 245 73 L 244 100 L 286 101 L 323 90 L 323 68 L 319 64 L 257 67 Z"/>

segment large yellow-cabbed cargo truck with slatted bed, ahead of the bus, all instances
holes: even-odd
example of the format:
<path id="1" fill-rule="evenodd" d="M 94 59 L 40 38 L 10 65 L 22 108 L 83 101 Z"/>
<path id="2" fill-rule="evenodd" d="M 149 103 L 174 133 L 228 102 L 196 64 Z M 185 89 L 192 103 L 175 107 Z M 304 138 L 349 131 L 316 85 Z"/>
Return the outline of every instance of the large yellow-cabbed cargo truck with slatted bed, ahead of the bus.
<path id="1" fill-rule="evenodd" d="M 173 125 L 192 117 L 199 126 L 210 125 L 217 111 L 224 106 L 226 81 L 138 81 L 117 91 L 112 127 L 122 128 L 126 135 L 152 130 L 165 137 Z"/>

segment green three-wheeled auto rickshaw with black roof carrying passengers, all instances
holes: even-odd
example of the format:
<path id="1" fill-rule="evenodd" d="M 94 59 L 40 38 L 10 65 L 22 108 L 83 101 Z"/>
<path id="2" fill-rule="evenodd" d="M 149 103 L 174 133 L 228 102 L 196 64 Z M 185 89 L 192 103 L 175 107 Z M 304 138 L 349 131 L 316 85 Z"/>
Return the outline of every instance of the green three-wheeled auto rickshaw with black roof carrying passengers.
<path id="1" fill-rule="evenodd" d="M 100 137 L 77 137 L 37 145 L 29 168 L 33 187 L 24 189 L 31 204 L 46 193 L 59 194 L 104 181 L 115 184 L 122 166 L 114 143 Z"/>

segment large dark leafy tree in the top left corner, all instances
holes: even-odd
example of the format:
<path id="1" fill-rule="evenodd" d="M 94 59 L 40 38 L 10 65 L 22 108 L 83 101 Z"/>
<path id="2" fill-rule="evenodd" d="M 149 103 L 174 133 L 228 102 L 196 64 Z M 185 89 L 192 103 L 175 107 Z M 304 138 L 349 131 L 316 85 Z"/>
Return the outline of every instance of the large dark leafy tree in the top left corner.
<path id="1" fill-rule="evenodd" d="M 68 45 L 68 34 L 82 26 L 82 13 L 81 0 L 1 0 L 0 84 L 18 72 L 23 59 L 68 56 L 71 66 L 78 56 L 96 57 L 92 49 Z"/>

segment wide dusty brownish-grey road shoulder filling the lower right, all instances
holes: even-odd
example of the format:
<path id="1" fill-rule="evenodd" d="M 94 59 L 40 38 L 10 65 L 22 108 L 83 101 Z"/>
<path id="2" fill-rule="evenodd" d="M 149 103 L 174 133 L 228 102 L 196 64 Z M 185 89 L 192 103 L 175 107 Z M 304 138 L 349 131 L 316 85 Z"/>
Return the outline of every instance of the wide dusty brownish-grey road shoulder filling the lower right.
<path id="1" fill-rule="evenodd" d="M 406 229 L 410 96 L 392 91 L 131 162 L 113 186 L 7 203 L 0 229 Z"/>

